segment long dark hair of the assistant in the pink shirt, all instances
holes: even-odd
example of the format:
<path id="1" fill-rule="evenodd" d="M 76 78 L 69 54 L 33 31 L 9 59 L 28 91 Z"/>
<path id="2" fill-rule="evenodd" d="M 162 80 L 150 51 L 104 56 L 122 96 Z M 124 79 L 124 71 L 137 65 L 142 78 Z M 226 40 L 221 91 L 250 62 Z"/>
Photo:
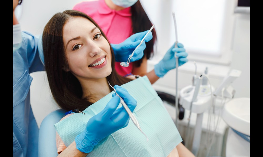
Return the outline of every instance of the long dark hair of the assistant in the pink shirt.
<path id="1" fill-rule="evenodd" d="M 140 1 L 137 1 L 131 6 L 131 22 L 133 27 L 133 33 L 149 30 L 151 26 L 153 26 L 146 12 L 144 11 Z M 146 48 L 143 51 L 143 58 L 146 56 L 147 59 L 153 57 L 154 44 L 155 41 L 157 41 L 155 28 L 151 32 L 153 33 L 153 38 L 150 41 L 145 42 Z M 135 67 L 139 67 L 141 65 L 143 58 L 134 62 Z"/>

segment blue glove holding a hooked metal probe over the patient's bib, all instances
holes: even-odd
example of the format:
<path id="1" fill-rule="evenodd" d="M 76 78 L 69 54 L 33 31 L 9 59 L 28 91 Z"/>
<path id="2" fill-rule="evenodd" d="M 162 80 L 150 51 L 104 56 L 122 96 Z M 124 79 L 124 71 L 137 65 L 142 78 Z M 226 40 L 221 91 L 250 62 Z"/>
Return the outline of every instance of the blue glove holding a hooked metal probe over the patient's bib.
<path id="1" fill-rule="evenodd" d="M 120 86 L 116 88 L 116 91 L 133 112 L 137 101 L 126 89 Z M 113 98 L 110 99 L 106 107 L 93 116 L 88 121 L 85 130 L 75 137 L 76 147 L 81 152 L 91 152 L 100 140 L 128 125 L 130 118 L 123 106 L 116 109 L 120 103 L 120 98 L 115 93 L 112 96 Z"/>

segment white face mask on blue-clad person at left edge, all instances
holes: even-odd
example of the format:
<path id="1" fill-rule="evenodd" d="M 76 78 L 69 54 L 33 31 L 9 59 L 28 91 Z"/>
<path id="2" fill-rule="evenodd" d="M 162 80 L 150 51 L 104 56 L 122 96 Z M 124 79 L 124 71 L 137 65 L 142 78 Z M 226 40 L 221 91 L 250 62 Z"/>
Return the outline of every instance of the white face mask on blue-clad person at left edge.
<path id="1" fill-rule="evenodd" d="M 22 31 L 20 24 L 13 25 L 13 53 L 17 51 L 22 44 Z"/>

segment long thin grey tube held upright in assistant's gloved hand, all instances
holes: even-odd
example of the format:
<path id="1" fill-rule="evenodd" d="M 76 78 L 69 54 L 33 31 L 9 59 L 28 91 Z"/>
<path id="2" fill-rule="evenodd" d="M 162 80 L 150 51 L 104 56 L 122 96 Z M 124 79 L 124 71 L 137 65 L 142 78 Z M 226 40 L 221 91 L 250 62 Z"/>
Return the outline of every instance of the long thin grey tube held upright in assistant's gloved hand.
<path id="1" fill-rule="evenodd" d="M 174 48 L 177 48 L 177 43 L 178 43 L 178 37 L 177 37 L 177 26 L 176 26 L 176 20 L 175 20 L 175 15 L 173 12 L 173 18 L 174 18 L 174 29 L 175 29 L 175 45 Z M 176 117 L 175 117 L 175 124 L 177 124 L 177 119 L 178 119 L 178 115 L 179 115 L 179 108 L 178 108 L 178 67 L 179 67 L 179 63 L 178 63 L 178 57 L 176 56 L 176 52 L 174 54 L 175 57 L 175 70 L 176 70 L 176 83 L 175 83 L 175 112 L 176 112 Z"/>

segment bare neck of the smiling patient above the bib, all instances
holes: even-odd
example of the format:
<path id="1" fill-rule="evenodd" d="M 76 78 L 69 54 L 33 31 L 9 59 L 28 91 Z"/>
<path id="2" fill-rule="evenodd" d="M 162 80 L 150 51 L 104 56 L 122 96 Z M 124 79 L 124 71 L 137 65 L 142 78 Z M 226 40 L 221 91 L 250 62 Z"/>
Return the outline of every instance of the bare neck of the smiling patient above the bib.
<path id="1" fill-rule="evenodd" d="M 106 78 L 80 81 L 80 84 L 83 91 L 82 98 L 90 97 L 92 99 L 89 101 L 94 103 L 111 92 Z"/>

